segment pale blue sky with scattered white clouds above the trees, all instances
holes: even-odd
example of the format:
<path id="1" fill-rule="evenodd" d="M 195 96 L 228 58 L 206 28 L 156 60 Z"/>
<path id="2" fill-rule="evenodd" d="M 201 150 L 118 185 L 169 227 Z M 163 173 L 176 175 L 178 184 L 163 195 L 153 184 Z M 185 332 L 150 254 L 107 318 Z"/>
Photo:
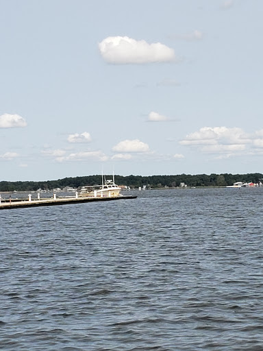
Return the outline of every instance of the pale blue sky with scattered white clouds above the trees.
<path id="1" fill-rule="evenodd" d="M 0 181 L 263 172 L 262 0 L 0 0 Z"/>

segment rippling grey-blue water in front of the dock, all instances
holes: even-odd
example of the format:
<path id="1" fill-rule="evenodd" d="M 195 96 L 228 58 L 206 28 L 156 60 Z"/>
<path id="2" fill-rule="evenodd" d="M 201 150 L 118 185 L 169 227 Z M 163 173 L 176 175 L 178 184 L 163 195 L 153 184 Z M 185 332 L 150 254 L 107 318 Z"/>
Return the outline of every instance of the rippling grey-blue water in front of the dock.
<path id="1" fill-rule="evenodd" d="M 1 210 L 1 350 L 262 351 L 262 198 L 140 191 Z"/>

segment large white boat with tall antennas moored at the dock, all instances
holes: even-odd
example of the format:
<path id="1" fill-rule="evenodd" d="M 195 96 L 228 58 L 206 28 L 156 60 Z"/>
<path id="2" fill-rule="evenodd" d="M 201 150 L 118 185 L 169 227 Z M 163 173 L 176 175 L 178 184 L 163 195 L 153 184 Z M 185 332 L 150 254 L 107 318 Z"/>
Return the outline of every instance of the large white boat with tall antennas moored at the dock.
<path id="1" fill-rule="evenodd" d="M 82 186 L 79 197 L 116 197 L 120 194 L 121 188 L 113 180 L 102 181 L 101 185 Z"/>

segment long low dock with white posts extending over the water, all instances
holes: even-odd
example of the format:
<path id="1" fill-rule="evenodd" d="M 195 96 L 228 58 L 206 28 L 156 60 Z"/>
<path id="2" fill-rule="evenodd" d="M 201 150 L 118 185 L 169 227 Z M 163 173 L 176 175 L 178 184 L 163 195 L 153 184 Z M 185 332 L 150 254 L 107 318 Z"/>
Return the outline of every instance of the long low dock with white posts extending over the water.
<path id="1" fill-rule="evenodd" d="M 66 204 L 82 204 L 84 202 L 99 202 L 99 201 L 113 201 L 119 199 L 136 199 L 137 196 L 114 196 L 114 197 L 57 197 L 46 199 L 11 199 L 1 200 L 0 210 L 7 210 L 10 208 L 25 208 L 25 207 L 38 207 L 38 206 L 56 206 Z"/>

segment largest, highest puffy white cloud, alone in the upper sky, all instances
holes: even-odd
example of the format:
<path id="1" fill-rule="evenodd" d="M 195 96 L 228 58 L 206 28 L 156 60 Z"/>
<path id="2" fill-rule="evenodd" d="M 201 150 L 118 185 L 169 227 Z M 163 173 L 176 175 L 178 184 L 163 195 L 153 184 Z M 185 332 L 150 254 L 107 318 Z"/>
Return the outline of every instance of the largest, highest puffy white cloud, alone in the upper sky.
<path id="1" fill-rule="evenodd" d="M 128 36 L 109 36 L 99 43 L 103 60 L 112 64 L 144 64 L 175 61 L 175 51 L 161 43 L 149 44 Z"/>

